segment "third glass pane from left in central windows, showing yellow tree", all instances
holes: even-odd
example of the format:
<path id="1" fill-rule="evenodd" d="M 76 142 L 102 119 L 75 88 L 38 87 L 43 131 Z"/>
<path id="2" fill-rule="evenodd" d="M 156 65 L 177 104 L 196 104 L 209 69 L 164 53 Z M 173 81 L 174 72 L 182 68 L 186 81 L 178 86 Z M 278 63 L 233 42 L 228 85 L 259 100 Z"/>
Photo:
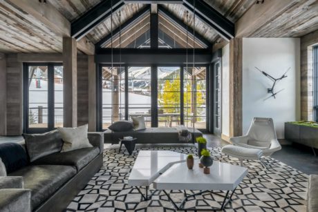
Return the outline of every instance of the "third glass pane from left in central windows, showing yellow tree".
<path id="1" fill-rule="evenodd" d="M 180 125 L 180 67 L 158 67 L 158 126 Z"/>

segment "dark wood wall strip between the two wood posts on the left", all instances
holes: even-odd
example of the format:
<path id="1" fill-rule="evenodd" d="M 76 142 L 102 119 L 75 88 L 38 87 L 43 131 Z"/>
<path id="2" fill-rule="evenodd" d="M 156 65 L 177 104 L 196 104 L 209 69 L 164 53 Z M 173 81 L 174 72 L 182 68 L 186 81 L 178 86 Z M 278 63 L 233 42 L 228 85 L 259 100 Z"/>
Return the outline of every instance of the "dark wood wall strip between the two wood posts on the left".
<path id="1" fill-rule="evenodd" d="M 77 125 L 88 124 L 88 59 L 77 56 Z"/>

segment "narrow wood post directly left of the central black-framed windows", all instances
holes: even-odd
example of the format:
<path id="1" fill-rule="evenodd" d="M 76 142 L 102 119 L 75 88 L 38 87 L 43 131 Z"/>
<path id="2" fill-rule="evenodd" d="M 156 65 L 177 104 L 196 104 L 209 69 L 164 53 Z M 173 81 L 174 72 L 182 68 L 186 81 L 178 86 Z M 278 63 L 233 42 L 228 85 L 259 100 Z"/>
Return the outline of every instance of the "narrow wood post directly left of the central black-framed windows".
<path id="1" fill-rule="evenodd" d="M 96 129 L 96 65 L 93 55 L 88 55 L 88 131 Z"/>

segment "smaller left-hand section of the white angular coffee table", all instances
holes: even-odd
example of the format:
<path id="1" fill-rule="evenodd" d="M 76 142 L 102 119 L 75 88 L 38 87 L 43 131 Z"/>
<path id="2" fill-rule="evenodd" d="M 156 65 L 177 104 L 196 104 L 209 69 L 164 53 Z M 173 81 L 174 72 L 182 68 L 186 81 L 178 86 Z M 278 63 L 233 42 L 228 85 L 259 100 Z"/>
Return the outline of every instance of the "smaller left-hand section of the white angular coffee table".
<path id="1" fill-rule="evenodd" d="M 176 163 L 185 162 L 187 155 L 173 151 L 140 151 L 129 175 L 129 186 L 135 186 L 144 200 L 149 200 L 149 186 L 160 174 L 167 171 Z M 141 186 L 146 186 L 146 195 L 140 191 Z"/>

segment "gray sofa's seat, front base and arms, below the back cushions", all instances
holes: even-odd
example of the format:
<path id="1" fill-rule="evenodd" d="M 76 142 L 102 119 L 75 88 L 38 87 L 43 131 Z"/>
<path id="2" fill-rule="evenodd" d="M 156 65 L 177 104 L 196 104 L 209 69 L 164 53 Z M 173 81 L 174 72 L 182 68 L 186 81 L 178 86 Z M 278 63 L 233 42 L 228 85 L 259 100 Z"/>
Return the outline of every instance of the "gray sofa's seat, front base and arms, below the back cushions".
<path id="1" fill-rule="evenodd" d="M 93 147 L 53 153 L 0 177 L 0 211 L 66 209 L 102 166 L 103 133 L 88 140 Z"/>

